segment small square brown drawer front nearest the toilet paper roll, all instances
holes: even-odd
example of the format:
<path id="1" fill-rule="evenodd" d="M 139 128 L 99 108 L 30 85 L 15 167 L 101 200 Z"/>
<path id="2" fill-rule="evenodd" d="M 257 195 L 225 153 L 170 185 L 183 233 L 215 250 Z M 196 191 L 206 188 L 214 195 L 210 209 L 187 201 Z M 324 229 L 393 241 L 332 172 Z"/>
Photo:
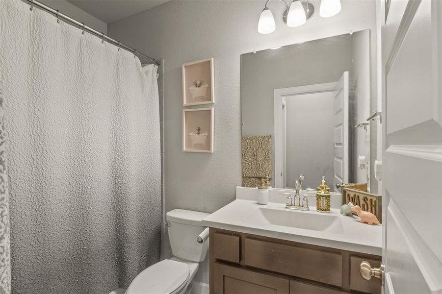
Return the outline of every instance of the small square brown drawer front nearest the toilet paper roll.
<path id="1" fill-rule="evenodd" d="M 215 259 L 239 263 L 239 236 L 215 232 L 213 239 Z"/>

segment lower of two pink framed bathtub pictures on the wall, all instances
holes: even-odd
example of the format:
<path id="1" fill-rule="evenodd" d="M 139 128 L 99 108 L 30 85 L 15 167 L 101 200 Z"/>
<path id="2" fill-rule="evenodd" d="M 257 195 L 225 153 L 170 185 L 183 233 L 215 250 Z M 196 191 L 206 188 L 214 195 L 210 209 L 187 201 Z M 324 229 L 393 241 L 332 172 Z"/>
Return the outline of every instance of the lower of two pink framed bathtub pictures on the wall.
<path id="1" fill-rule="evenodd" d="M 182 110 L 182 151 L 213 153 L 213 107 Z"/>

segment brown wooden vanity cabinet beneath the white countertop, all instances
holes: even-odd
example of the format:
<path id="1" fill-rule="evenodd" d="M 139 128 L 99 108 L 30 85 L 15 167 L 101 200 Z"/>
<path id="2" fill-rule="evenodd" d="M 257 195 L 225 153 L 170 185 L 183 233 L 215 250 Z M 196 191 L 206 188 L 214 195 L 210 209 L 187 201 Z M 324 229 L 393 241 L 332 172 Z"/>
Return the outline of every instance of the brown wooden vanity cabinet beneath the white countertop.
<path id="1" fill-rule="evenodd" d="M 360 275 L 363 260 L 381 257 L 210 228 L 211 294 L 381 293 Z"/>

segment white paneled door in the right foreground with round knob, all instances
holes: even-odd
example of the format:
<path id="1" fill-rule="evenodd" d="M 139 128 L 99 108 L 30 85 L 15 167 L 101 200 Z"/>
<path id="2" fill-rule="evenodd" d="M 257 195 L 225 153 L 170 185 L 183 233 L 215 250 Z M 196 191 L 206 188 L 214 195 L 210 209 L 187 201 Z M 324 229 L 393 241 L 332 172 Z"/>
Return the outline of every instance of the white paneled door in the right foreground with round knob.
<path id="1" fill-rule="evenodd" d="M 382 27 L 384 293 L 442 293 L 441 41 L 442 1 L 390 2 Z"/>

